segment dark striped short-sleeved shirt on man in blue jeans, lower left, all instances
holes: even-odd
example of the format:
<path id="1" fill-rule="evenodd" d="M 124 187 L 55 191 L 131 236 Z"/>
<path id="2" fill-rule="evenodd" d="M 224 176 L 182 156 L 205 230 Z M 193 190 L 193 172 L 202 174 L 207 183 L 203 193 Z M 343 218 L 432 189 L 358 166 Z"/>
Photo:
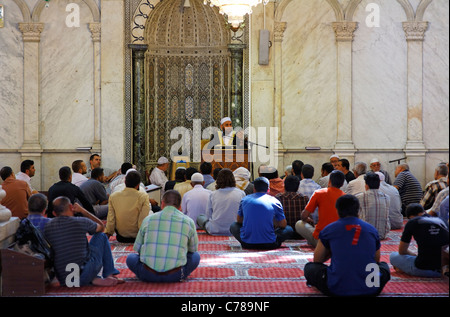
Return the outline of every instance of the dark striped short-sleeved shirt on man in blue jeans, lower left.
<path id="1" fill-rule="evenodd" d="M 84 217 L 59 216 L 44 228 L 44 236 L 54 251 L 56 278 L 65 285 L 66 266 L 75 263 L 82 266 L 89 259 L 89 242 L 86 234 L 94 234 L 97 224 Z"/>

